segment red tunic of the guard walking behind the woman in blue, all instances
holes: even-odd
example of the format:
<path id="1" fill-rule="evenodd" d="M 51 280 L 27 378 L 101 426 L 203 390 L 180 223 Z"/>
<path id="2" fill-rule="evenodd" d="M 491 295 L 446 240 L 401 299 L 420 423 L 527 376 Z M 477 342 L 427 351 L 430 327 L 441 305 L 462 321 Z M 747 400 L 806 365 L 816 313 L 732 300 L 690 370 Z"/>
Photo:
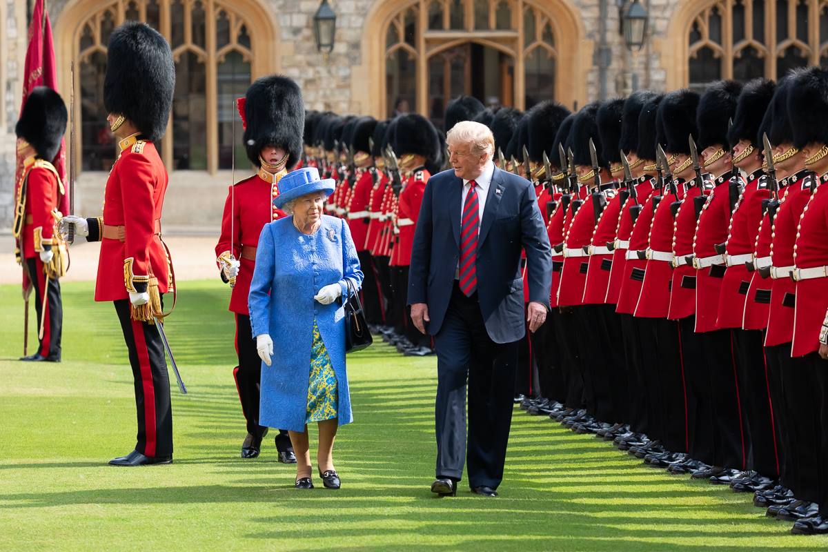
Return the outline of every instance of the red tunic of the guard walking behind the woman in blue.
<path id="1" fill-rule="evenodd" d="M 273 205 L 273 198 L 279 194 L 279 180 L 286 172 L 271 175 L 260 169 L 257 174 L 233 185 L 224 201 L 224 214 L 221 218 L 221 235 L 215 246 L 217 262 L 232 253 L 241 262 L 233 290 L 230 292 L 229 310 L 237 314 L 250 314 L 248 294 L 253 270 L 254 258 L 242 256 L 242 247 L 257 247 L 262 228 L 267 223 L 282 218 L 285 213 Z M 233 244 L 231 251 L 230 244 Z"/>

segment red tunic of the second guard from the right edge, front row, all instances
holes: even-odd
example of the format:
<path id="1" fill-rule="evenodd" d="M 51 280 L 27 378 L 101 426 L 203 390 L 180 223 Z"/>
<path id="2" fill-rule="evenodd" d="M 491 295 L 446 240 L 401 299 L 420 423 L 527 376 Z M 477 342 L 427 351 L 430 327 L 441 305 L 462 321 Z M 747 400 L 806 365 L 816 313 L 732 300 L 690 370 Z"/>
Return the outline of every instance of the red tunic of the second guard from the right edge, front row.
<path id="1" fill-rule="evenodd" d="M 811 198 L 811 178 L 816 175 L 801 171 L 797 180 L 787 186 L 785 197 L 779 201 L 773 219 L 771 262 L 773 270 L 793 266 L 793 246 L 797 241 L 797 225 L 802 209 Z M 768 333 L 765 346 L 773 347 L 793 339 L 793 310 L 796 306 L 797 285 L 790 276 L 778 277 L 771 284 L 771 305 L 768 312 Z"/>

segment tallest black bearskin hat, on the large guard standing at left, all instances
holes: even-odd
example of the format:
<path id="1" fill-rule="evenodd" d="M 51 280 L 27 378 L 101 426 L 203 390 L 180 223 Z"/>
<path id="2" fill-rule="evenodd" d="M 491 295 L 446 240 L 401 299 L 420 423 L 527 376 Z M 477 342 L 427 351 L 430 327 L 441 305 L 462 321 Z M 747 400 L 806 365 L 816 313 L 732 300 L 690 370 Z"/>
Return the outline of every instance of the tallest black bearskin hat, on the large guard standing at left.
<path id="1" fill-rule="evenodd" d="M 126 22 L 109 36 L 103 105 L 123 115 L 142 136 L 164 136 L 176 89 L 170 45 L 146 23 Z M 301 127 L 299 133 L 301 134 Z"/>

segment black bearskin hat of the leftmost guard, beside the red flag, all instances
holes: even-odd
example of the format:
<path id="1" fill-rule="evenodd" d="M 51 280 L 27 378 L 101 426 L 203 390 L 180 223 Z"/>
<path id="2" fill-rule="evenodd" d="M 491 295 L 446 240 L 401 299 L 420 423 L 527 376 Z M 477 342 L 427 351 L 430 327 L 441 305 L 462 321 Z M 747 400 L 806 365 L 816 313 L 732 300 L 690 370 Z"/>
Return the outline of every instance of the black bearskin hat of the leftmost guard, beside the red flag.
<path id="1" fill-rule="evenodd" d="M 66 132 L 66 104 L 60 94 L 46 86 L 31 90 L 14 132 L 35 149 L 44 161 L 53 161 Z"/>

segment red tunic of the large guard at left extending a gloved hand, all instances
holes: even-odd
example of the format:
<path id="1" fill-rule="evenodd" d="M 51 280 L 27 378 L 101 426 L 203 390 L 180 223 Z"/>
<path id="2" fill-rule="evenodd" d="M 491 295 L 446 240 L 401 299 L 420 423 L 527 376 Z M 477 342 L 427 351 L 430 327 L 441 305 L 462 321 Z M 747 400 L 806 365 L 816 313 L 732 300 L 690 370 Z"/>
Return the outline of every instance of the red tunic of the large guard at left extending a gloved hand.
<path id="1" fill-rule="evenodd" d="M 128 299 L 129 291 L 147 290 L 150 276 L 156 277 L 160 293 L 173 290 L 171 261 L 161 242 L 166 167 L 155 144 L 137 135 L 118 146 L 121 153 L 103 190 L 103 218 L 89 228 L 90 241 L 101 240 L 96 301 Z M 104 225 L 123 227 L 123 242 L 102 238 Z"/>

